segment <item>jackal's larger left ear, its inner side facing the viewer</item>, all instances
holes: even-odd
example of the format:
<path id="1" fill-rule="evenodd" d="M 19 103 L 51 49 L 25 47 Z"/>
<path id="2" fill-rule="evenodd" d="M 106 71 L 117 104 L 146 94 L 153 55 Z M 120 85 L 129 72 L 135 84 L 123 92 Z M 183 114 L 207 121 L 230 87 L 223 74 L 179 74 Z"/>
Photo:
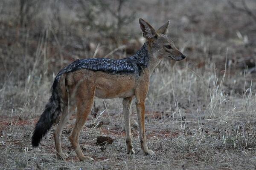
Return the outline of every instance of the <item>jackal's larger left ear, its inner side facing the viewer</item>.
<path id="1" fill-rule="evenodd" d="M 153 27 L 147 23 L 145 20 L 143 19 L 139 19 L 139 23 L 140 23 L 140 29 L 142 30 L 143 33 L 143 37 L 147 38 L 147 39 L 152 39 L 154 37 L 157 37 L 157 32 L 153 29 Z"/>

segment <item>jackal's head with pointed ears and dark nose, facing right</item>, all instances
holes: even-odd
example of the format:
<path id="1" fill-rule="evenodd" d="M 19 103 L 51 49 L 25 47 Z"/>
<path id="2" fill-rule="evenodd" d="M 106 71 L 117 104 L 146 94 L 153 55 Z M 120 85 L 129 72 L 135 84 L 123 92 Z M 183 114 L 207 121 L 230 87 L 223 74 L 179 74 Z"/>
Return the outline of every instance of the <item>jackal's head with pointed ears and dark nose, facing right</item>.
<path id="1" fill-rule="evenodd" d="M 167 31 L 170 21 L 161 26 L 157 31 L 145 20 L 139 19 L 140 29 L 143 37 L 146 38 L 150 46 L 151 52 L 157 58 L 169 58 L 180 61 L 186 58 L 175 46 L 174 42 L 167 37 Z"/>

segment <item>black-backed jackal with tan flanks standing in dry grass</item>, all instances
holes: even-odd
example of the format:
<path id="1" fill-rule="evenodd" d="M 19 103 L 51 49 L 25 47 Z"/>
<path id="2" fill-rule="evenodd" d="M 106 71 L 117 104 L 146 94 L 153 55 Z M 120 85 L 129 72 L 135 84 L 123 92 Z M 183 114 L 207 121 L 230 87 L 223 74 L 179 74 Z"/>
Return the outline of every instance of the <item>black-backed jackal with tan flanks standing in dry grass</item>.
<path id="1" fill-rule="evenodd" d="M 145 136 L 145 98 L 149 78 L 162 58 L 180 61 L 185 58 L 169 37 L 166 36 L 169 21 L 157 31 L 143 19 L 139 19 L 144 45 L 134 56 L 120 60 L 90 58 L 74 61 L 65 66 L 52 85 L 52 96 L 40 119 L 35 125 L 32 146 L 38 147 L 42 137 L 61 115 L 54 132 L 57 157 L 68 157 L 61 150 L 61 133 L 70 114 L 77 108 L 76 122 L 69 137 L 81 161 L 92 161 L 84 156 L 79 146 L 79 134 L 93 107 L 94 96 L 98 98 L 123 98 L 127 153 L 133 154 L 131 141 L 130 110 L 132 99 L 136 98 L 137 117 L 140 129 L 140 145 L 144 155 L 154 155 L 148 149 Z"/>

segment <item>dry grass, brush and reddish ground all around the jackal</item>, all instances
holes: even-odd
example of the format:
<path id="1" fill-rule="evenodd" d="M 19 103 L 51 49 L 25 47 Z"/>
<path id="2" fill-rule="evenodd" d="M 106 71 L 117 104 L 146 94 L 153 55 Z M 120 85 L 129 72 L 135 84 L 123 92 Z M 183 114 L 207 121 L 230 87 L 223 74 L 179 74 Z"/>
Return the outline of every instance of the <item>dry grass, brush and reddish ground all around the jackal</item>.
<path id="1" fill-rule="evenodd" d="M 1 1 L 0 169 L 254 169 L 255 14 L 253 0 Z M 69 158 L 56 159 L 55 127 L 32 148 L 61 67 L 76 58 L 134 54 L 143 43 L 139 17 L 153 26 L 170 20 L 169 37 L 187 56 L 164 59 L 151 76 L 145 126 L 156 155 L 140 151 L 134 106 L 135 155 L 126 154 L 121 99 L 96 99 L 81 131 L 93 163 L 79 162 L 67 138 L 75 115 L 61 138 Z M 113 141 L 98 146 L 99 136 Z"/>

